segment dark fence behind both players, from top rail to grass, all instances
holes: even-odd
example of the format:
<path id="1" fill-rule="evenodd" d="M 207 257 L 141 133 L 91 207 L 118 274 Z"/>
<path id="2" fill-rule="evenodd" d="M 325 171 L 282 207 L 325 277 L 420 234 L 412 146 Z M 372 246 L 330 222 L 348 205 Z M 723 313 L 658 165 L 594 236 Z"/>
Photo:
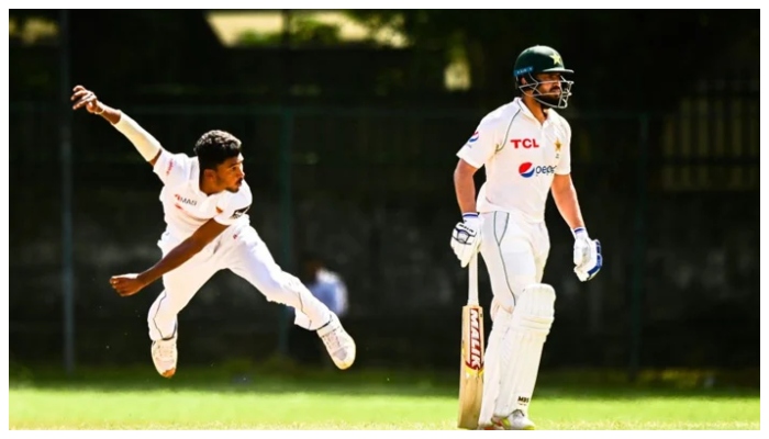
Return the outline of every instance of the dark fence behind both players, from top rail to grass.
<path id="1" fill-rule="evenodd" d="M 244 142 L 253 224 L 289 270 L 312 249 L 344 277 L 358 364 L 455 368 L 467 279 L 448 246 L 458 217 L 452 172 L 491 108 L 108 103 L 174 151 L 191 155 L 212 128 Z M 35 101 L 10 110 L 10 353 L 56 361 L 60 108 Z M 758 365 L 758 92 L 738 83 L 664 113 L 565 115 L 575 183 L 605 267 L 578 282 L 571 235 L 549 201 L 545 282 L 558 300 L 543 367 Z M 159 257 L 160 183 L 109 124 L 85 113 L 71 121 L 76 358 L 143 361 L 146 312 L 161 285 L 121 299 L 108 279 Z M 480 279 L 488 305 L 483 269 Z M 218 273 L 180 316 L 185 361 L 261 359 L 285 348 L 281 312 L 245 281 Z"/>

